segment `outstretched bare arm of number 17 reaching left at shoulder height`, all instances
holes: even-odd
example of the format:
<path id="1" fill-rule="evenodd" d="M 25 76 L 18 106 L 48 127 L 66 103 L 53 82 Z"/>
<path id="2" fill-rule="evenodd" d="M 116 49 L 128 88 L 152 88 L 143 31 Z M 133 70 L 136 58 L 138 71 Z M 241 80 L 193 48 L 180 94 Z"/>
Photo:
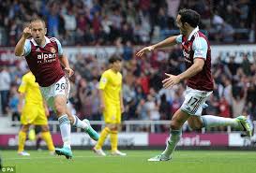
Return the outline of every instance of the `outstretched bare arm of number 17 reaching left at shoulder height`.
<path id="1" fill-rule="evenodd" d="M 168 37 L 168 38 L 166 38 L 165 40 L 163 40 L 161 42 L 158 42 L 155 45 L 145 47 L 145 48 L 143 48 L 143 50 L 138 51 L 136 53 L 136 56 L 141 57 L 147 51 L 152 51 L 152 50 L 157 50 L 159 48 L 166 48 L 166 47 L 173 46 L 177 43 L 176 38 L 177 38 L 177 36 L 171 36 L 171 37 Z"/>

